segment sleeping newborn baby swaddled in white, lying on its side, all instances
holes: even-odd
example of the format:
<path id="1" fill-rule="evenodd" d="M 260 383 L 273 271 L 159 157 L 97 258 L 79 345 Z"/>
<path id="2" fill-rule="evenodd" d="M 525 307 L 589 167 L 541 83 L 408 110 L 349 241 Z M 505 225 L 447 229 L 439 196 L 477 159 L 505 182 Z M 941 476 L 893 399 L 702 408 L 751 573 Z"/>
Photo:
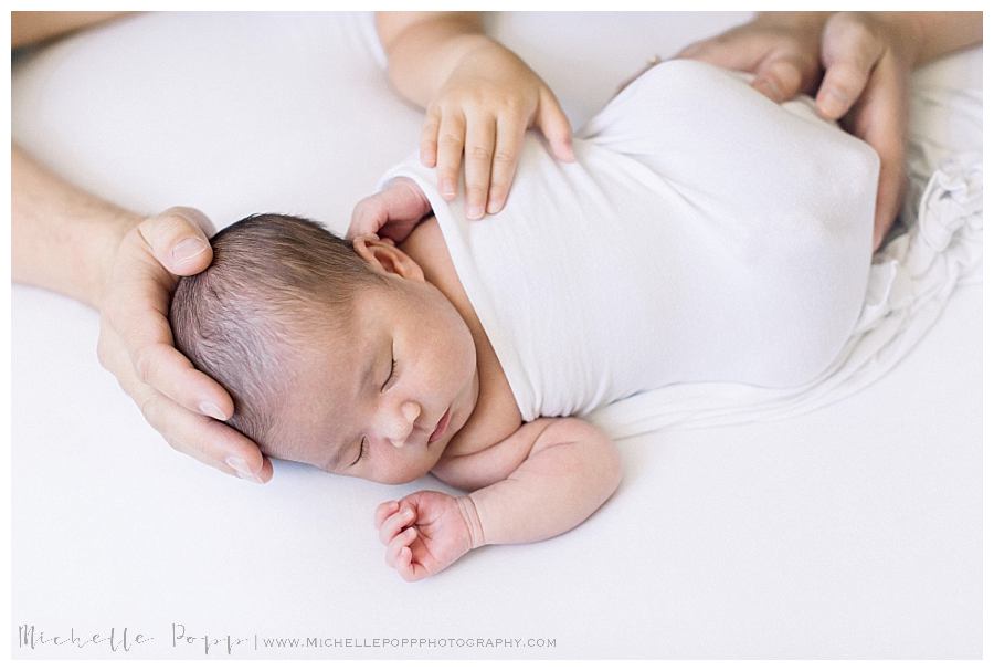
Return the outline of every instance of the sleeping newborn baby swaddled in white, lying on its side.
<path id="1" fill-rule="evenodd" d="M 859 315 L 879 161 L 810 98 L 778 105 L 744 75 L 668 61 L 573 148 L 562 164 L 529 134 L 483 222 L 411 157 L 359 206 L 406 199 L 401 243 L 260 214 L 177 287 L 177 347 L 264 453 L 468 492 L 378 506 L 408 580 L 596 511 L 621 464 L 582 419 L 594 409 L 678 382 L 802 385 Z"/>

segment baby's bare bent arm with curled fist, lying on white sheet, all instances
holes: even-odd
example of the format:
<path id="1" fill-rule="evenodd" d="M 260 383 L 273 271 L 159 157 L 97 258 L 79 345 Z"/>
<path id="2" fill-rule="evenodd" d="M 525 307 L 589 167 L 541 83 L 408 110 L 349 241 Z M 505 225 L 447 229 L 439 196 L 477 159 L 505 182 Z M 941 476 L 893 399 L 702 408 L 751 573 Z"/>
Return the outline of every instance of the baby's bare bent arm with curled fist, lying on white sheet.
<path id="1" fill-rule="evenodd" d="M 567 532 L 621 482 L 614 443 L 577 418 L 542 418 L 499 443 L 432 471 L 466 496 L 415 492 L 377 511 L 387 563 L 404 579 L 438 573 L 483 545 L 530 543 Z"/>

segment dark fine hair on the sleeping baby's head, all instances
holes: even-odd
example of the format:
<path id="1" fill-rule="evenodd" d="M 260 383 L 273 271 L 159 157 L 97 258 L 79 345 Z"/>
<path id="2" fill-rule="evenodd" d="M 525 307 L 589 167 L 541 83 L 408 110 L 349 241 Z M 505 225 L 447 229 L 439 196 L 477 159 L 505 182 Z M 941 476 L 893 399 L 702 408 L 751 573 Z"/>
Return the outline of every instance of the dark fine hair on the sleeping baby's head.
<path id="1" fill-rule="evenodd" d="M 214 258 L 181 277 L 169 307 L 176 347 L 231 395 L 228 424 L 274 454 L 290 364 L 318 329 L 347 336 L 359 290 L 387 286 L 350 242 L 319 223 L 253 214 L 211 239 Z"/>

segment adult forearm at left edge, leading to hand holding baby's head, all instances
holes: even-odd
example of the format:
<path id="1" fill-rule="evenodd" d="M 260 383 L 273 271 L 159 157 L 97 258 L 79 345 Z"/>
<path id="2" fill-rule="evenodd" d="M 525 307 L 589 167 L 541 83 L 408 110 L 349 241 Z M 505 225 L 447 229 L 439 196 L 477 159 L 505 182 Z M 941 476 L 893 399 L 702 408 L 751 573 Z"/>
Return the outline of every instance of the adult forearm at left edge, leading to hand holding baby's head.
<path id="1" fill-rule="evenodd" d="M 141 217 L 92 196 L 11 147 L 11 275 L 96 307 L 124 234 Z"/>

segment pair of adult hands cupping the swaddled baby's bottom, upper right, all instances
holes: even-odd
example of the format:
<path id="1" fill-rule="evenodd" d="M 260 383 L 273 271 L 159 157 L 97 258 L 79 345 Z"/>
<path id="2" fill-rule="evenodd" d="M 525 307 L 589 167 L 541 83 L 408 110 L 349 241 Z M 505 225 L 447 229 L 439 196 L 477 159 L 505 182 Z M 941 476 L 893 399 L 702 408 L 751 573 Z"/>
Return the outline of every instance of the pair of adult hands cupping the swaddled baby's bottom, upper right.
<path id="1" fill-rule="evenodd" d="M 776 103 L 815 95 L 818 113 L 880 156 L 874 251 L 905 190 L 908 75 L 916 27 L 887 12 L 772 12 L 686 48 L 696 59 L 755 73 L 752 86 Z M 824 77 L 819 80 L 824 69 Z"/>

